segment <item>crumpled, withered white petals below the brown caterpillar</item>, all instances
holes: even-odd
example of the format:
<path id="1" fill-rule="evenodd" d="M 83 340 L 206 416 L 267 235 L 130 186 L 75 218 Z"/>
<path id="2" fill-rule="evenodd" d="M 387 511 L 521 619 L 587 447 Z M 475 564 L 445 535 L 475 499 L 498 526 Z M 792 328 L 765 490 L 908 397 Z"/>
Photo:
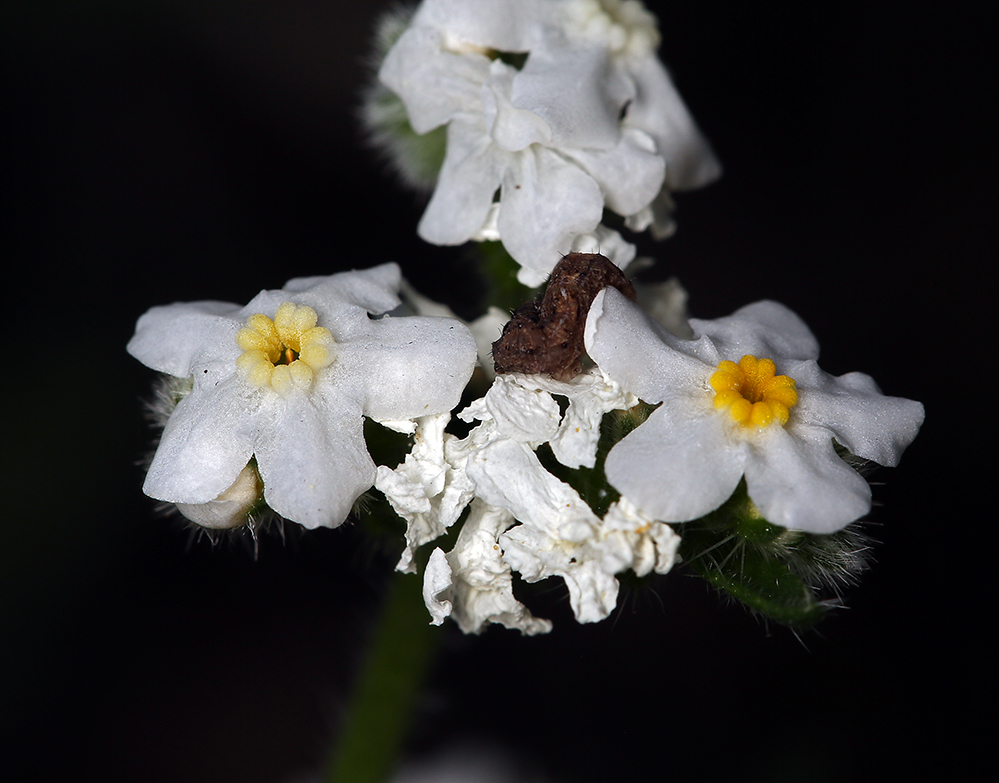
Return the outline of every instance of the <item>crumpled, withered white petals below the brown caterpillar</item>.
<path id="1" fill-rule="evenodd" d="M 564 413 L 552 395 L 568 399 Z M 455 547 L 435 550 L 424 574 L 434 622 L 451 616 L 466 633 L 493 622 L 547 631 L 550 624 L 513 596 L 514 572 L 531 582 L 562 577 L 577 620 L 595 622 L 616 604 L 616 574 L 672 567 L 679 537 L 667 525 L 626 500 L 600 519 L 535 453 L 548 443 L 564 465 L 592 467 L 604 413 L 637 402 L 596 368 L 568 382 L 501 375 L 459 414 L 480 422 L 466 438 L 428 427 L 433 446 L 421 446 L 418 456 L 414 449 L 395 471 L 380 470 L 379 488 L 409 521 L 411 548 L 417 536 L 423 543 L 440 535 L 456 520 L 456 501 L 474 495 Z M 410 562 L 411 552 L 399 567 Z"/>

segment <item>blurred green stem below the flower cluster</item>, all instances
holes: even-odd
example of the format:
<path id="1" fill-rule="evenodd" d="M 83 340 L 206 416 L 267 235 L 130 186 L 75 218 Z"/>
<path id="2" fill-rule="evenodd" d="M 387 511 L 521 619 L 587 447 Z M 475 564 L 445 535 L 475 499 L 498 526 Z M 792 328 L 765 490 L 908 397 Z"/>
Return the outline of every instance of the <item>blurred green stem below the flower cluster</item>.
<path id="1" fill-rule="evenodd" d="M 420 579 L 394 574 L 339 744 L 326 765 L 326 783 L 388 780 L 440 634 L 430 625 Z"/>

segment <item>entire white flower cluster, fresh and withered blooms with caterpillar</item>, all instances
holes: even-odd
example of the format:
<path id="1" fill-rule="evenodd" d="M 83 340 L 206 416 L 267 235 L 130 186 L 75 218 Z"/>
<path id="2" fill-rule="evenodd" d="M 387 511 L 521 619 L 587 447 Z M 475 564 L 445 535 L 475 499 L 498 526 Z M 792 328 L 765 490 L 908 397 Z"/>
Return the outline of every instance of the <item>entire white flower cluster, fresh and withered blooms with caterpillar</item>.
<path id="1" fill-rule="evenodd" d="M 532 286 L 588 252 L 507 327 L 493 307 L 469 328 L 395 264 L 296 278 L 245 306 L 153 308 L 128 351 L 173 380 L 144 491 L 208 528 L 267 509 L 316 528 L 375 488 L 406 522 L 397 568 L 425 563 L 432 621 L 466 633 L 551 628 L 518 579 L 560 577 L 576 619 L 602 620 L 623 572 L 670 571 L 683 525 L 706 529 L 736 499 L 770 529 L 828 540 L 863 517 L 870 488 L 847 458 L 897 464 L 919 403 L 823 372 L 783 305 L 688 319 L 675 282 L 633 287 L 591 255 L 634 257 L 605 208 L 665 233 L 669 191 L 719 170 L 657 45 L 636 0 L 424 0 L 380 70 L 412 129 L 447 129 L 421 236 L 501 239 Z M 490 385 L 457 412 L 459 437 L 448 426 L 476 364 Z M 375 463 L 365 418 L 412 437 L 401 464 Z"/>

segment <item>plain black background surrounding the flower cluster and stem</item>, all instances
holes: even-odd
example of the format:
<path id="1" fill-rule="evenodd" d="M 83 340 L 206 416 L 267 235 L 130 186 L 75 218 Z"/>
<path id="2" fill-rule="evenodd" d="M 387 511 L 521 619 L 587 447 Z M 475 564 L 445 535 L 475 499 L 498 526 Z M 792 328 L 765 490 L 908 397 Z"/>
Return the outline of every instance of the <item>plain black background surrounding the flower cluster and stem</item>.
<path id="1" fill-rule="evenodd" d="M 460 251 L 416 238 L 419 199 L 355 120 L 387 5 L 2 12 L 5 780 L 294 780 L 336 736 L 390 561 L 349 527 L 291 525 L 254 557 L 158 516 L 136 465 L 152 373 L 124 345 L 156 304 L 387 260 L 472 309 Z M 484 737 L 556 781 L 960 779 L 997 695 L 976 500 L 995 464 L 984 13 L 656 8 L 726 170 L 642 250 L 694 315 L 788 304 L 826 370 L 869 372 L 927 423 L 876 474 L 877 562 L 818 631 L 680 572 L 579 626 L 556 585 L 535 606 L 547 637 L 441 629 L 412 751 Z"/>

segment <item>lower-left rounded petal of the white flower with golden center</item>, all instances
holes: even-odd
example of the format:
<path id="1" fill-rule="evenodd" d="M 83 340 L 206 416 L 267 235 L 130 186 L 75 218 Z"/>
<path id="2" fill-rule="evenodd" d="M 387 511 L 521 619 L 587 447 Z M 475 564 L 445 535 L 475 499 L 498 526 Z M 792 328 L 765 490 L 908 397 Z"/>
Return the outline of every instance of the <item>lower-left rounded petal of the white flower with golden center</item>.
<path id="1" fill-rule="evenodd" d="M 607 480 L 649 517 L 697 519 L 738 486 L 747 445 L 729 436 L 710 405 L 664 403 L 607 455 Z"/>

